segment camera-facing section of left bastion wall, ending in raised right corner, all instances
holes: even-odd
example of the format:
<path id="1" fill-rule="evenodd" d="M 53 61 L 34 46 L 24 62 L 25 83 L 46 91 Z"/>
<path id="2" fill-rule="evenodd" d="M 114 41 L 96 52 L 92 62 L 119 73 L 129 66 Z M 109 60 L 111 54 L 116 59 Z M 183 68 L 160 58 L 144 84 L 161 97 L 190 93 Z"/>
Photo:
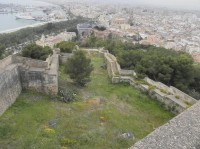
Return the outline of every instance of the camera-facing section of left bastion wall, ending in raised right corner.
<path id="1" fill-rule="evenodd" d="M 57 53 L 58 52 L 58 53 Z M 18 59 L 24 59 L 18 57 Z M 47 94 L 58 93 L 59 51 L 54 50 L 47 62 L 30 60 L 20 65 L 23 89 L 34 89 Z"/>

